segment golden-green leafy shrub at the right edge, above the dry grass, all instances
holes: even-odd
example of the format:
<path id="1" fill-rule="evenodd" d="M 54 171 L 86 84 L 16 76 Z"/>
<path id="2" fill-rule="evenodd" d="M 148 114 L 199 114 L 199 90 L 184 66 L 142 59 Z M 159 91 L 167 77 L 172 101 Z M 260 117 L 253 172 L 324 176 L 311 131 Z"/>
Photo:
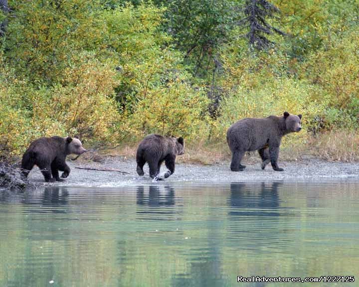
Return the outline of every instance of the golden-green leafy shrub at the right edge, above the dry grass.
<path id="1" fill-rule="evenodd" d="M 320 86 L 330 107 L 329 125 L 359 125 L 359 30 L 344 38 L 326 41 L 326 48 L 314 53 L 304 66 L 304 73 L 313 85 Z M 349 124 L 349 125 L 348 125 Z"/>

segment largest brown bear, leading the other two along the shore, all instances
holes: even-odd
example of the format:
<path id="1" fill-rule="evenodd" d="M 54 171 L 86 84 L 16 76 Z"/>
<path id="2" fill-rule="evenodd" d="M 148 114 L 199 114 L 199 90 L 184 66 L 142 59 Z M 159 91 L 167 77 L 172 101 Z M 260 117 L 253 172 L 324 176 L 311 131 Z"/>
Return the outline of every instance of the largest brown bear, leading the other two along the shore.
<path id="1" fill-rule="evenodd" d="M 242 171 L 245 165 L 240 162 L 248 150 L 258 150 L 262 158 L 262 169 L 271 162 L 276 171 L 283 171 L 277 164 L 279 145 L 283 136 L 299 132 L 302 115 L 269 116 L 265 119 L 243 119 L 234 123 L 227 131 L 227 143 L 232 151 L 230 168 Z"/>

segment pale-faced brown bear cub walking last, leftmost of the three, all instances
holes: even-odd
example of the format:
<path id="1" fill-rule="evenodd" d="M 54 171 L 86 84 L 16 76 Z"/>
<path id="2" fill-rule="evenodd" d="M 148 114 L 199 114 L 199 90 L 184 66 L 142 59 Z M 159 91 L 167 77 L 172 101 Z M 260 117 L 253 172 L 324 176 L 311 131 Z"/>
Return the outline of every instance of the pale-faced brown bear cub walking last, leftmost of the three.
<path id="1" fill-rule="evenodd" d="M 26 149 L 21 160 L 22 175 L 27 177 L 36 164 L 45 177 L 46 182 L 63 181 L 58 171 L 63 171 L 61 177 L 70 174 L 70 167 L 66 164 L 68 154 L 82 154 L 86 151 L 78 139 L 70 137 L 40 138 L 33 141 Z M 51 176 L 52 175 L 52 176 Z"/>

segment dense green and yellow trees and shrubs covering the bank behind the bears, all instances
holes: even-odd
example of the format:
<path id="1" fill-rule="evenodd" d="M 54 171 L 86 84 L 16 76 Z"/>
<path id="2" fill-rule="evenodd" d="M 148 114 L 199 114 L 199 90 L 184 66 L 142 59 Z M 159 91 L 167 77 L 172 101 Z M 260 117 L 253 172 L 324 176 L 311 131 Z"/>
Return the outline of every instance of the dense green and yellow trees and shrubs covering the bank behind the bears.
<path id="1" fill-rule="evenodd" d="M 225 142 L 301 113 L 294 141 L 359 126 L 358 0 L 1 0 L 0 148 L 33 139 Z"/>

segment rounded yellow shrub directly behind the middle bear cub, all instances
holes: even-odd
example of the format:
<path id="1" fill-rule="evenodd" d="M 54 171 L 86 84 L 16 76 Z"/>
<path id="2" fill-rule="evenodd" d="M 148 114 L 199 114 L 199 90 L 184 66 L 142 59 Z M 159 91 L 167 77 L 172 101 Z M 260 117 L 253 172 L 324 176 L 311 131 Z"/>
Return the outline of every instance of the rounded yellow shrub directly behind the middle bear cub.
<path id="1" fill-rule="evenodd" d="M 153 88 L 143 96 L 130 117 L 140 135 L 158 133 L 183 136 L 191 141 L 208 134 L 208 98 L 180 78 Z"/>

